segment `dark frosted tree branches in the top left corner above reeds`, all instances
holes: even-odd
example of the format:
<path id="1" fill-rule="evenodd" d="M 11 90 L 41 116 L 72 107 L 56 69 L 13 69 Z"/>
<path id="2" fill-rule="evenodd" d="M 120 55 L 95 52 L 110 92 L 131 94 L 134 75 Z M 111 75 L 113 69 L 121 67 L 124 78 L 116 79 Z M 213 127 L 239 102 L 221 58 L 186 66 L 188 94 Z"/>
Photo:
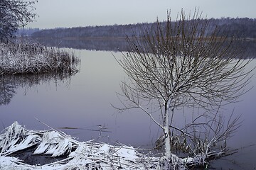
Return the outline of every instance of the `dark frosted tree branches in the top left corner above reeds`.
<path id="1" fill-rule="evenodd" d="M 33 4 L 36 1 L 1 0 L 0 1 L 0 37 L 14 36 L 18 28 L 32 22 L 36 14 Z"/>

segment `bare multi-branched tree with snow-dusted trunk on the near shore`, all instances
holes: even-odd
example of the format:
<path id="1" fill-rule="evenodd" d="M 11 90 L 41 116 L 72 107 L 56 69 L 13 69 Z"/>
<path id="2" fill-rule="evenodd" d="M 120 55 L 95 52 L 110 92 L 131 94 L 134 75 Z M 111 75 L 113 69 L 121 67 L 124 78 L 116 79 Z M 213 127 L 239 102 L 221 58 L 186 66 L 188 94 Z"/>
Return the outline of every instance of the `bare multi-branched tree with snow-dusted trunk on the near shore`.
<path id="1" fill-rule="evenodd" d="M 164 131 L 164 157 L 171 163 L 171 130 L 186 134 L 188 127 L 198 125 L 174 127 L 176 110 L 200 107 L 215 115 L 219 108 L 236 101 L 250 79 L 250 71 L 245 70 L 250 60 L 240 58 L 242 52 L 234 40 L 218 37 L 219 28 L 209 32 L 210 23 L 202 13 L 181 11 L 174 22 L 170 13 L 167 16 L 166 22 L 142 28 L 141 37 L 127 38 L 129 52 L 116 60 L 128 76 L 121 84 L 119 97 L 124 107 L 120 111 L 142 109 L 159 125 Z M 211 121 L 204 126 L 217 123 L 215 132 L 219 132 L 223 124 L 218 126 L 218 116 Z M 231 129 L 226 132 L 233 132 Z M 215 135 L 215 139 L 220 137 L 220 133 Z"/>

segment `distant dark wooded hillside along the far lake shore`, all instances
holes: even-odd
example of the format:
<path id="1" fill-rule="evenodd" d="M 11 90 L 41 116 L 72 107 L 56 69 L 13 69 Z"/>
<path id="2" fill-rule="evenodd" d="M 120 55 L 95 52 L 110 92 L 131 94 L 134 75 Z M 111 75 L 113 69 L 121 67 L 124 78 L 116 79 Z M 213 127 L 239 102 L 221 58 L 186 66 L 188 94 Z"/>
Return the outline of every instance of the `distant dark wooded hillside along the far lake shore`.
<path id="1" fill-rule="evenodd" d="M 220 18 L 208 19 L 210 27 L 208 34 L 212 33 L 215 26 L 222 28 L 220 36 L 235 38 L 256 38 L 256 18 Z M 188 23 L 191 21 L 187 21 Z M 161 24 L 166 24 L 162 22 Z M 55 28 L 39 30 L 32 33 L 36 38 L 122 38 L 140 36 L 142 28 L 154 28 L 156 23 L 137 23 L 114 26 L 87 26 L 76 28 Z"/>

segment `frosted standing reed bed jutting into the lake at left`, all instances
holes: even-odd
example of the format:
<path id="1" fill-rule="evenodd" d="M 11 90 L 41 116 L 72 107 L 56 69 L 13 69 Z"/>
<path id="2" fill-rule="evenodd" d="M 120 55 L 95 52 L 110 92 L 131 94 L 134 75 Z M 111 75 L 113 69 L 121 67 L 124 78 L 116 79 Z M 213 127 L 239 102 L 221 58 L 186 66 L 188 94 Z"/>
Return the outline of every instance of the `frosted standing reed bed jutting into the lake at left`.
<path id="1" fill-rule="evenodd" d="M 0 75 L 78 72 L 78 58 L 38 43 L 0 43 Z"/>

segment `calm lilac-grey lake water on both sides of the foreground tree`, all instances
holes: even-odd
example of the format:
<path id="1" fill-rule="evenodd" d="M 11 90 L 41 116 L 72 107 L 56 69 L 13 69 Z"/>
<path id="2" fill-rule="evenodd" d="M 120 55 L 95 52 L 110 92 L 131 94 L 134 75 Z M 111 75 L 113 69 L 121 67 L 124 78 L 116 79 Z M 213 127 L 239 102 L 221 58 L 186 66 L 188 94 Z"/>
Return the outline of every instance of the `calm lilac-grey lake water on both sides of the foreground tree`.
<path id="1" fill-rule="evenodd" d="M 154 146 L 161 130 L 147 115 L 139 110 L 118 113 L 112 107 L 120 105 L 116 92 L 120 91 L 120 81 L 125 79 L 122 68 L 113 57 L 122 57 L 116 47 L 118 43 L 112 44 L 114 48 L 106 45 L 102 47 L 101 43 L 106 42 L 99 42 L 95 45 L 97 49 L 93 45 L 87 45 L 92 42 L 72 40 L 70 45 L 76 43 L 79 47 L 68 46 L 66 43 L 58 44 L 80 57 L 78 74 L 68 79 L 38 80 L 31 84 L 23 83 L 26 81 L 24 79 L 10 81 L 1 78 L 1 86 L 8 88 L 1 87 L 0 130 L 14 121 L 27 129 L 36 130 L 48 129 L 43 125 L 46 123 L 80 141 L 94 139 L 110 143 L 121 142 L 134 147 Z M 255 47 L 255 43 L 252 47 Z M 122 49 L 125 49 L 123 44 Z M 255 65 L 256 60 L 253 60 L 250 67 Z M 252 77 L 249 86 L 255 84 L 256 76 Z M 4 92 L 6 89 L 9 93 Z M 234 115 L 241 115 L 242 120 L 242 126 L 228 141 L 230 147 L 240 149 L 238 154 L 227 157 L 235 159 L 235 164 L 218 161 L 214 165 L 232 169 L 255 169 L 256 147 L 252 145 L 256 144 L 256 88 L 239 99 L 239 103 L 230 104 L 225 110 L 231 113 L 234 109 Z M 177 123 L 179 121 L 183 122 L 182 116 Z"/>

